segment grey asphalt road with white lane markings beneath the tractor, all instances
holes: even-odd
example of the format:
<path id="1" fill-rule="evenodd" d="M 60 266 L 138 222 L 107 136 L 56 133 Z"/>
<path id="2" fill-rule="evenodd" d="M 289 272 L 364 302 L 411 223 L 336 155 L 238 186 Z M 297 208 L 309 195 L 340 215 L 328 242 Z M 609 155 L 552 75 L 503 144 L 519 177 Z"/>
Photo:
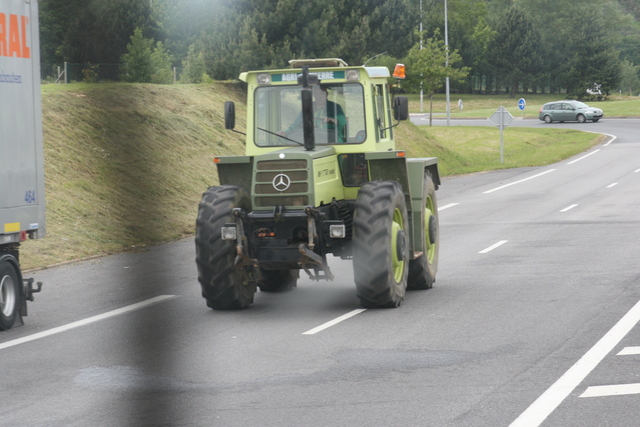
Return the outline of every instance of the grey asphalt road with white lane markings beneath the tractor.
<path id="1" fill-rule="evenodd" d="M 33 273 L 0 425 L 637 425 L 640 121 L 519 124 L 615 138 L 444 179 L 437 282 L 398 309 L 359 310 L 332 259 L 334 282 L 214 312 L 191 239 Z"/>

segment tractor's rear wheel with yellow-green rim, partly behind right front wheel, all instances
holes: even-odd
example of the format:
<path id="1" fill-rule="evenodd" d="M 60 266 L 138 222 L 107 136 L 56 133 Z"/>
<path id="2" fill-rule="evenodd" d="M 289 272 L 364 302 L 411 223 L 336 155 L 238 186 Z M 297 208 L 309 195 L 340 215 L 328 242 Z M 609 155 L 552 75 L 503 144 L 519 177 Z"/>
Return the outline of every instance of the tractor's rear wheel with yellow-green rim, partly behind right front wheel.
<path id="1" fill-rule="evenodd" d="M 436 201 L 436 186 L 429 172 L 424 176 L 422 204 L 425 207 L 421 221 L 422 247 L 425 249 L 422 255 L 409 261 L 409 278 L 407 279 L 409 289 L 431 289 L 436 281 L 436 271 L 438 271 L 440 249 L 438 203 Z"/>

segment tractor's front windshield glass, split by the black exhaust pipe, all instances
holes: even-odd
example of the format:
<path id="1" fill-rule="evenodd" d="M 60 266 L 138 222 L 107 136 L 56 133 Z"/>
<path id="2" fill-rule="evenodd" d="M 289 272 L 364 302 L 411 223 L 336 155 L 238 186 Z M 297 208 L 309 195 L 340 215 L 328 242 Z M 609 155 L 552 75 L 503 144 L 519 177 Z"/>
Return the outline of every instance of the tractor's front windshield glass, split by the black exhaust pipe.
<path id="1" fill-rule="evenodd" d="M 301 86 L 262 86 L 255 92 L 254 141 L 259 147 L 304 145 Z M 366 139 L 363 89 L 357 83 L 313 86 L 316 145 Z"/>

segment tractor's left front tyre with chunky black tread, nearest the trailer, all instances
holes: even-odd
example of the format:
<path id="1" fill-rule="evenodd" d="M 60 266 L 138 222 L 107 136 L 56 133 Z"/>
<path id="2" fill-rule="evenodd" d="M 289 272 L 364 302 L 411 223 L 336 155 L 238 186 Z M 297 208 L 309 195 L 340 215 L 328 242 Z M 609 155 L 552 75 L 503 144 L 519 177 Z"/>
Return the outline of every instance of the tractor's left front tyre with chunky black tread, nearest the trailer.
<path id="1" fill-rule="evenodd" d="M 249 194 L 237 185 L 210 187 L 203 195 L 196 221 L 198 281 L 207 306 L 215 310 L 246 308 L 253 302 L 256 283 L 234 268 L 236 242 L 222 240 L 225 223 L 235 222 L 234 208 L 251 210 Z"/>

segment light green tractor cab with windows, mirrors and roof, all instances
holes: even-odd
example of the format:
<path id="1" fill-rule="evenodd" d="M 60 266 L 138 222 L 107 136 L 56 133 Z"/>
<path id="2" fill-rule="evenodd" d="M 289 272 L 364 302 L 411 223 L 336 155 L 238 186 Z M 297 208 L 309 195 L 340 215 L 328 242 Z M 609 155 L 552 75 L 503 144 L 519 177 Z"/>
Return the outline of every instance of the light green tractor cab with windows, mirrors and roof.
<path id="1" fill-rule="evenodd" d="M 349 67 L 332 58 L 289 62 L 292 69 L 240 75 L 248 92 L 247 155 L 305 146 L 305 109 L 314 146 L 333 145 L 338 153 L 395 149 L 394 118 L 408 118 L 408 108 L 406 98 L 391 102 L 386 67 Z M 226 111 L 232 128 L 234 108 Z"/>

